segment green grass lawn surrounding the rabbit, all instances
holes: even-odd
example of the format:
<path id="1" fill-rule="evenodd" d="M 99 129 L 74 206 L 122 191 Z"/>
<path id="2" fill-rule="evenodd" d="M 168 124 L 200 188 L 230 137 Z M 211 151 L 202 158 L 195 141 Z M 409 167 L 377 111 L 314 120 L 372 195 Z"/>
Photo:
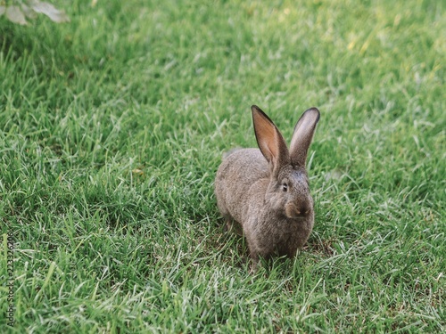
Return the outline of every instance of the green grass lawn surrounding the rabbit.
<path id="1" fill-rule="evenodd" d="M 441 1 L 91 3 L 0 17 L 2 332 L 446 330 Z M 213 196 L 252 104 L 321 111 L 314 231 L 256 274 Z"/>

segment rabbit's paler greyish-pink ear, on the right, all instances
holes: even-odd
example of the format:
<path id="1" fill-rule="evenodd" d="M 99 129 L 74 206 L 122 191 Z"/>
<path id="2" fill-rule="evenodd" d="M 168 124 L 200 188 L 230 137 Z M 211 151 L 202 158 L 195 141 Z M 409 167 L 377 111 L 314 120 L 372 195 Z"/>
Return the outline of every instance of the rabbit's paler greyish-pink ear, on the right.
<path id="1" fill-rule="evenodd" d="M 294 166 L 305 166 L 307 152 L 313 139 L 314 130 L 318 124 L 320 114 L 316 108 L 306 110 L 294 126 L 291 139 L 290 155 Z"/>

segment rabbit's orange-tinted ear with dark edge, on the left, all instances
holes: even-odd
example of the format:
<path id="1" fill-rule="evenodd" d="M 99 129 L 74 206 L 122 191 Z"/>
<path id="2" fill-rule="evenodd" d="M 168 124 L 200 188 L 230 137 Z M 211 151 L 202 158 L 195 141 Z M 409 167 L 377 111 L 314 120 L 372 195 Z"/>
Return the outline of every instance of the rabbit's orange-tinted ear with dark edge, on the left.
<path id="1" fill-rule="evenodd" d="M 284 137 L 273 121 L 258 106 L 253 105 L 251 110 L 255 137 L 260 151 L 268 160 L 272 171 L 278 172 L 279 167 L 291 162 Z"/>

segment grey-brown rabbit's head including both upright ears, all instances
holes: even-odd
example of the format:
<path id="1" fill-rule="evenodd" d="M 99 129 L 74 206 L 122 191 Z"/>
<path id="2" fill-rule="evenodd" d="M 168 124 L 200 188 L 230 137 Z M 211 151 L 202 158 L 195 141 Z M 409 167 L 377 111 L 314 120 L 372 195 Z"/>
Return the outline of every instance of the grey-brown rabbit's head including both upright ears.
<path id="1" fill-rule="evenodd" d="M 318 119 L 316 108 L 302 114 L 288 150 L 273 121 L 259 107 L 252 106 L 255 136 L 270 172 L 265 200 L 270 208 L 287 218 L 301 220 L 314 215 L 305 161 Z"/>

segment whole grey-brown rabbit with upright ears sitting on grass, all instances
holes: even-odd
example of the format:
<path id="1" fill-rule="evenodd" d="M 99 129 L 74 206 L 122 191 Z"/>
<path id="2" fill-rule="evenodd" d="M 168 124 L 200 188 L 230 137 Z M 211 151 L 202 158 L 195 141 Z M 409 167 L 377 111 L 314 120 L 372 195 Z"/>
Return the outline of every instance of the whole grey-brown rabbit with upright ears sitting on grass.
<path id="1" fill-rule="evenodd" d="M 224 156 L 215 196 L 227 227 L 241 225 L 252 270 L 260 257 L 294 257 L 310 236 L 314 204 L 305 161 L 320 117 L 306 110 L 294 127 L 290 150 L 267 114 L 251 107 L 259 149 L 235 149 Z"/>

